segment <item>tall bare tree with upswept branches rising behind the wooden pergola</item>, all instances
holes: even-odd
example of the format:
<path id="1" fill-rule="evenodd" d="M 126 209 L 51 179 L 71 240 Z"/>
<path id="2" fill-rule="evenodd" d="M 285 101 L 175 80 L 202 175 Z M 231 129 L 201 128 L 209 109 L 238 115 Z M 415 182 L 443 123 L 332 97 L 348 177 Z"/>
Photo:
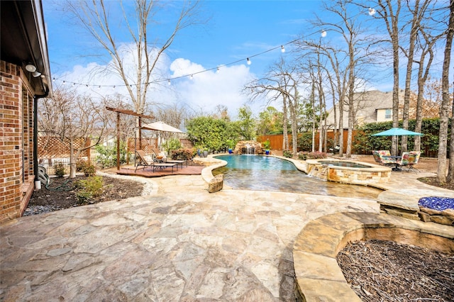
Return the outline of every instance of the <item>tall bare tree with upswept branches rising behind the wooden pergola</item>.
<path id="1" fill-rule="evenodd" d="M 181 11 L 175 20 L 175 25 L 170 30 L 167 38 L 159 41 L 160 37 L 150 35 L 153 33 L 150 26 L 156 23 L 153 18 L 160 11 L 160 1 L 135 0 L 135 16 L 130 18 L 128 11 L 119 1 L 67 1 L 66 6 L 80 24 L 92 35 L 111 57 L 112 65 L 109 71 L 118 74 L 124 82 L 131 97 L 136 113 L 144 113 L 147 102 L 147 93 L 153 84 L 155 75 L 158 74 L 157 63 L 167 48 L 172 45 L 177 34 L 189 26 L 197 23 L 196 13 L 199 1 L 181 1 Z M 121 4 L 123 21 L 128 30 L 131 41 L 135 45 L 134 62 L 135 70 L 128 69 L 129 62 L 122 51 L 123 45 L 118 43 L 113 28 L 118 20 L 109 16 L 109 4 Z"/>

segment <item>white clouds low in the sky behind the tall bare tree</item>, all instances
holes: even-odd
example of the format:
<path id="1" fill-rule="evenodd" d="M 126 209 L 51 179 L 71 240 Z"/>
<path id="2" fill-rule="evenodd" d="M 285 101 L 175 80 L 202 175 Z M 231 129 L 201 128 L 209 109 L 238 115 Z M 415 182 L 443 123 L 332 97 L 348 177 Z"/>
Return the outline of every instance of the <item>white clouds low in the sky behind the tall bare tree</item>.
<path id="1" fill-rule="evenodd" d="M 125 69 L 128 77 L 133 82 L 135 59 L 133 49 L 123 45 L 123 57 L 126 62 Z M 171 79 L 153 85 L 148 91 L 148 103 L 160 106 L 172 104 L 184 104 L 194 110 L 194 113 L 212 113 L 217 105 L 228 108 L 228 113 L 235 118 L 238 108 L 248 102 L 248 96 L 242 94 L 245 84 L 253 79 L 253 74 L 246 65 L 222 66 L 218 72 L 216 69 L 205 71 L 205 68 L 196 62 L 184 58 L 178 58 L 170 62 L 167 56 L 162 56 L 157 65 L 159 75 L 152 79 Z M 193 74 L 192 79 L 189 77 Z M 59 82 L 65 80 L 77 83 L 81 94 L 114 95 L 122 94 L 125 99 L 130 99 L 126 86 L 114 72 L 109 72 L 109 66 L 89 63 L 86 66 L 76 65 L 72 71 L 58 76 Z M 177 78 L 177 79 L 175 79 Z M 89 85 L 87 88 L 86 85 Z M 101 88 L 99 88 L 101 86 Z M 113 89 L 112 86 L 116 86 Z M 254 113 L 258 113 L 264 104 L 249 104 Z M 153 105 L 152 105 L 153 109 Z"/>

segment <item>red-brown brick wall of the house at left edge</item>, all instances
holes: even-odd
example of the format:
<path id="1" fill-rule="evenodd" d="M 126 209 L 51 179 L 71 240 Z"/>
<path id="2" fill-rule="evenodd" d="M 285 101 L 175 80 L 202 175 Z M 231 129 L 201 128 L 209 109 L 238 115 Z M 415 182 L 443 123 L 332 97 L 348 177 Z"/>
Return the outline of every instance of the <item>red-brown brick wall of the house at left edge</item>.
<path id="1" fill-rule="evenodd" d="M 20 66 L 0 60 L 0 223 L 20 217 L 33 192 L 33 96 Z"/>

